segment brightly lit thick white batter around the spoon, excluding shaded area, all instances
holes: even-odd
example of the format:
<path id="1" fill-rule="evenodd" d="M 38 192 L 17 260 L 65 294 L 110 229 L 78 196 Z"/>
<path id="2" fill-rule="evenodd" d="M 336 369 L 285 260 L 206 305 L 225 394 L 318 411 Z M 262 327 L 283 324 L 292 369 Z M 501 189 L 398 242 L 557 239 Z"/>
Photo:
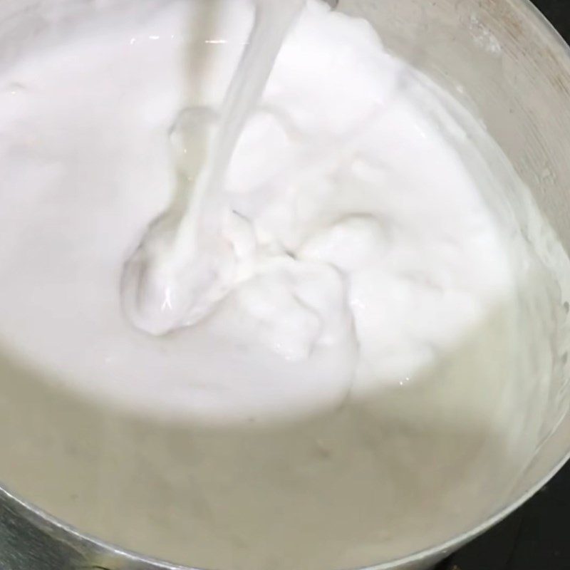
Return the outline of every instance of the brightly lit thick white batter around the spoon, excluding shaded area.
<path id="1" fill-rule="evenodd" d="M 190 320 L 211 318 L 170 338 L 130 328 L 123 264 L 185 191 L 176 165 L 203 157 L 215 113 L 197 105 L 224 95 L 251 26 L 248 2 L 224 6 L 212 37 L 228 43 L 201 46 L 195 76 L 181 9 L 4 78 L 5 179 L 20 191 L 2 196 L 2 330 L 74 389 L 204 420 L 336 407 L 412 381 L 508 296 L 507 249 L 415 102 L 413 71 L 324 4 L 309 4 L 286 41 L 234 155 L 224 304 L 206 299 Z"/>

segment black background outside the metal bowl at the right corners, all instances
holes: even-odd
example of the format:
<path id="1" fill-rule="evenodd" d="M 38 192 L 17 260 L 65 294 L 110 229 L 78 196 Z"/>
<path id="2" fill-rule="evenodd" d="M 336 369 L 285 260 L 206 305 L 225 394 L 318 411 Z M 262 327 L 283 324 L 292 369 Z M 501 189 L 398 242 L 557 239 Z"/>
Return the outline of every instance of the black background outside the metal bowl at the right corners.
<path id="1" fill-rule="evenodd" d="M 533 1 L 570 43 L 570 0 Z M 570 465 L 499 527 L 437 570 L 570 570 Z"/>

